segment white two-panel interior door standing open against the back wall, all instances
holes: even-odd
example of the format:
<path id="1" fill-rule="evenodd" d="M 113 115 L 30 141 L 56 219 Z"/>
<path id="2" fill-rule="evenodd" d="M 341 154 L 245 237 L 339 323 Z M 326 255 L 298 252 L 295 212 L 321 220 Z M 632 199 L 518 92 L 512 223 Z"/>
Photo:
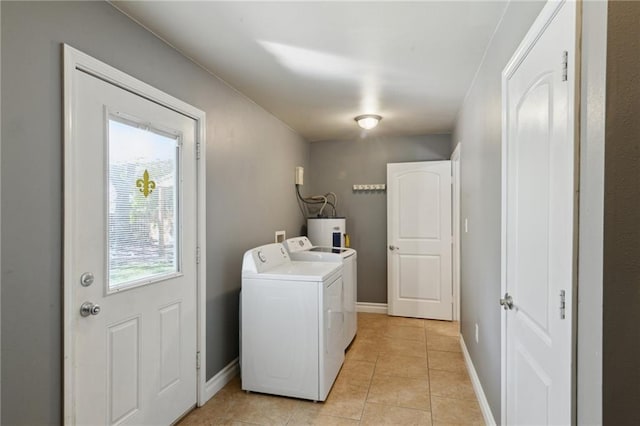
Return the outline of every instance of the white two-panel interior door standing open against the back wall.
<path id="1" fill-rule="evenodd" d="M 451 162 L 387 164 L 389 315 L 452 319 Z"/>

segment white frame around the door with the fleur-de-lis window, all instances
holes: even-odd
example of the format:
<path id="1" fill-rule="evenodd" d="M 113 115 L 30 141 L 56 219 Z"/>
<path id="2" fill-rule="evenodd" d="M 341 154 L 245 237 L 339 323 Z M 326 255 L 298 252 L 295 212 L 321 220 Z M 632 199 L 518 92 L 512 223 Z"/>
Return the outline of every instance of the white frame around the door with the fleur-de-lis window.
<path id="1" fill-rule="evenodd" d="M 74 144 L 78 143 L 77 137 L 73 132 L 73 116 L 75 112 L 75 104 L 73 99 L 73 88 L 76 85 L 76 70 L 80 70 L 96 78 L 99 78 L 114 86 L 120 87 L 130 93 L 141 96 L 151 102 L 169 108 L 179 114 L 187 116 L 196 122 L 196 151 L 199 153 L 196 159 L 196 197 L 197 197 L 197 231 L 196 240 L 199 248 L 196 258 L 196 354 L 199 367 L 196 370 L 196 403 L 202 406 L 206 400 L 205 384 L 206 384 L 206 114 L 204 111 L 195 108 L 173 96 L 162 92 L 136 78 L 133 78 L 124 72 L 111 67 L 67 44 L 63 44 L 64 56 L 64 259 L 63 259 L 63 410 L 64 423 L 74 424 L 74 327 L 77 322 L 77 306 L 73 303 L 73 283 L 77 281 L 77 277 L 72 276 L 73 254 L 77 247 L 72 244 L 73 233 L 72 217 L 75 204 L 71 193 L 70 182 L 74 179 L 74 173 L 69 167 L 72 164 Z"/>

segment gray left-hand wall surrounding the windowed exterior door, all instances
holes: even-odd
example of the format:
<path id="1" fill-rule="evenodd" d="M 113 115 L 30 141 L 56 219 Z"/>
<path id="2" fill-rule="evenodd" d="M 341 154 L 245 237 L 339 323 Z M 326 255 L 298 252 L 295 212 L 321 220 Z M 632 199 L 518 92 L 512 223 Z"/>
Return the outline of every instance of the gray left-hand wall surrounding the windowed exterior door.
<path id="1" fill-rule="evenodd" d="M 243 252 L 296 235 L 309 145 L 104 2 L 1 2 L 2 424 L 61 421 L 61 43 L 207 113 L 207 376 L 238 354 Z M 224 36 L 224 35 L 221 35 Z M 257 214 L 259 212 L 259 214 Z"/>

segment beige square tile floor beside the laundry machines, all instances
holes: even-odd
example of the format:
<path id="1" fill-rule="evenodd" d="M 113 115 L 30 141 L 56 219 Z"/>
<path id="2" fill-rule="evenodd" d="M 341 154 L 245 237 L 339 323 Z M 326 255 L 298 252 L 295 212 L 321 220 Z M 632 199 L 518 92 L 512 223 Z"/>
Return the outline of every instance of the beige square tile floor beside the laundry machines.
<path id="1" fill-rule="evenodd" d="M 458 323 L 358 314 L 329 397 L 245 393 L 236 377 L 180 425 L 482 425 Z"/>

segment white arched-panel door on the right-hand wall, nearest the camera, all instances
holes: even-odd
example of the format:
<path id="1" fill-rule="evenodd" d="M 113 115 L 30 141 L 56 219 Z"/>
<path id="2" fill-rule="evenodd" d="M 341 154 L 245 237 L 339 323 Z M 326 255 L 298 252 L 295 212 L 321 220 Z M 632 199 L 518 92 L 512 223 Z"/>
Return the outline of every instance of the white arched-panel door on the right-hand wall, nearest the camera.
<path id="1" fill-rule="evenodd" d="M 503 424 L 572 423 L 575 52 L 549 2 L 503 73 Z"/>

